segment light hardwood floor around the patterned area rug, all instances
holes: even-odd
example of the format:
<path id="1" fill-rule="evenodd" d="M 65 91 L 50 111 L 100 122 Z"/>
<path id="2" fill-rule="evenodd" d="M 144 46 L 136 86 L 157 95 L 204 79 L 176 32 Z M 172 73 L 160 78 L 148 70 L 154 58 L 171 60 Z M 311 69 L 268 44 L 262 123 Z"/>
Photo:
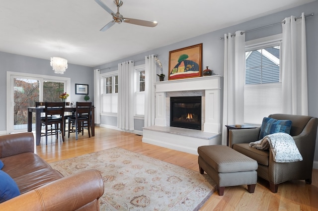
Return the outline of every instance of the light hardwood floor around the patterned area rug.
<path id="1" fill-rule="evenodd" d="M 95 136 L 88 138 L 87 131 L 75 140 L 72 133 L 65 142 L 48 140 L 42 137 L 41 145 L 35 147 L 36 154 L 47 162 L 73 158 L 87 153 L 120 147 L 165 162 L 199 171 L 198 156 L 142 142 L 142 136 L 117 130 L 95 127 Z M 268 183 L 258 179 L 255 192 L 247 192 L 247 186 L 226 187 L 223 196 L 217 191 L 201 208 L 201 211 L 318 211 L 318 169 L 313 170 L 311 185 L 302 180 L 285 182 L 279 185 L 278 193 L 269 191 Z"/>

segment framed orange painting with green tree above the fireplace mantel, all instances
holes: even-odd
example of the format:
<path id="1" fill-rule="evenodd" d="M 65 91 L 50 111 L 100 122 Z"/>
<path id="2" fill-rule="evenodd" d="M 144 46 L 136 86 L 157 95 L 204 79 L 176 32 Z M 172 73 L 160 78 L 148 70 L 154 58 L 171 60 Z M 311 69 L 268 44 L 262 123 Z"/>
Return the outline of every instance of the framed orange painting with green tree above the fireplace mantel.
<path id="1" fill-rule="evenodd" d="M 168 80 L 202 75 L 202 43 L 169 52 Z"/>

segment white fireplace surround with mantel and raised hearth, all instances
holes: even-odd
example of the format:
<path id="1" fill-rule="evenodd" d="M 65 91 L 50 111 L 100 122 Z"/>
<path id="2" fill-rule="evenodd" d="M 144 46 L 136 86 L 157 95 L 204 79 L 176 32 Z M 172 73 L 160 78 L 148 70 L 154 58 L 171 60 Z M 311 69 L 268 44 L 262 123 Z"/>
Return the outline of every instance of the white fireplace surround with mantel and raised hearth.
<path id="1" fill-rule="evenodd" d="M 220 75 L 155 82 L 155 125 L 143 128 L 143 142 L 197 155 L 203 145 L 221 144 Z M 202 96 L 201 131 L 170 127 L 170 97 Z"/>

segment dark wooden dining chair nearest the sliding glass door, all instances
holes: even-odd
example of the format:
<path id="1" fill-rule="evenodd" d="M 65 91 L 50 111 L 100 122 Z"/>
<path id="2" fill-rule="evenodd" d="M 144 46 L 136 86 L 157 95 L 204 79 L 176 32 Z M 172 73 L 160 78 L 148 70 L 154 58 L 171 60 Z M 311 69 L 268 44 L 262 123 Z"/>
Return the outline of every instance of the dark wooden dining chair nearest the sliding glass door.
<path id="1" fill-rule="evenodd" d="M 58 139 L 59 130 L 62 133 L 62 141 L 64 142 L 64 109 L 64 102 L 45 102 L 45 118 L 41 118 L 41 124 L 45 124 L 46 145 L 48 144 L 48 134 L 56 135 L 56 139 Z M 49 126 L 53 124 L 55 128 L 50 129 Z"/>

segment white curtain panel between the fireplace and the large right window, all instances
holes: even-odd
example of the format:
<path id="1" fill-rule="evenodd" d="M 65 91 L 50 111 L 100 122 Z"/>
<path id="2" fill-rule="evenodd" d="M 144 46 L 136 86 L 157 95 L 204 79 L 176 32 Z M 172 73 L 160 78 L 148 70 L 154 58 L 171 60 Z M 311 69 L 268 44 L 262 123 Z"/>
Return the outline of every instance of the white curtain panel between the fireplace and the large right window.
<path id="1" fill-rule="evenodd" d="M 244 117 L 245 34 L 224 35 L 224 93 L 222 144 L 226 145 L 225 125 L 242 124 Z"/>

